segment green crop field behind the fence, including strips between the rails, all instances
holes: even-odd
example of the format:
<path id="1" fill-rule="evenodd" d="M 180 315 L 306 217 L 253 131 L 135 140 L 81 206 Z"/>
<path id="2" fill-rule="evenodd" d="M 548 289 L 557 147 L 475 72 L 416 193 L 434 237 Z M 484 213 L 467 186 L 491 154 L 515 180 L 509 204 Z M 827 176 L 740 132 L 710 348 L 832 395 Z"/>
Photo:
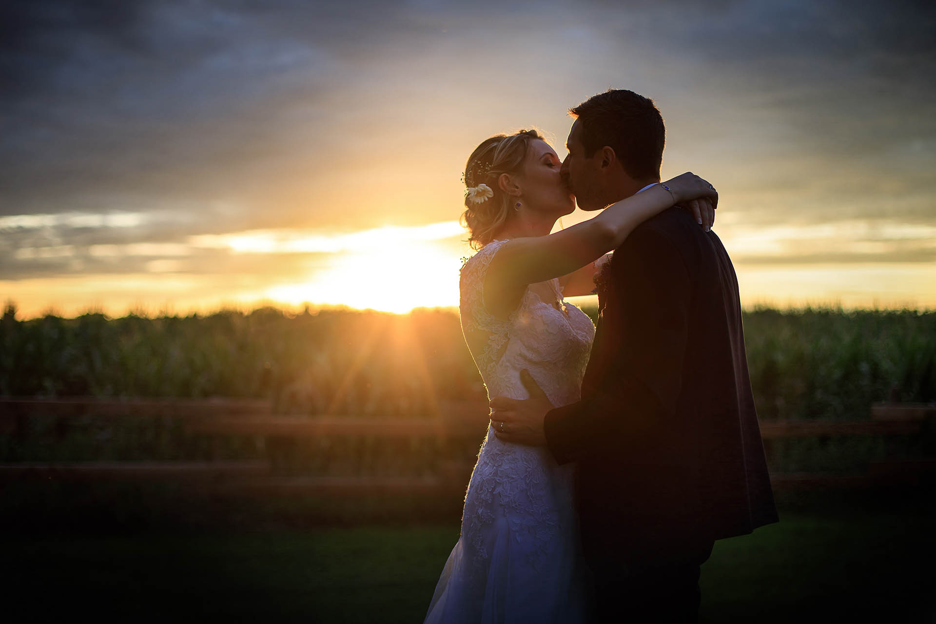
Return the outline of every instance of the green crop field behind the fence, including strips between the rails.
<path id="1" fill-rule="evenodd" d="M 745 312 L 744 327 L 762 420 L 861 420 L 874 401 L 936 400 L 936 312 L 762 309 Z M 440 399 L 486 396 L 450 310 L 290 315 L 264 308 L 19 320 L 12 305 L 0 320 L 0 395 L 250 398 L 269 400 L 278 414 L 387 418 L 432 414 Z M 115 421 L 88 414 L 66 427 L 54 417 L 33 416 L 18 427 L 15 436 L 0 431 L 0 460 L 264 457 L 256 440 L 208 441 L 187 435 L 183 422 L 171 418 Z M 474 455 L 482 437 L 483 426 L 460 455 Z M 420 472 L 419 454 L 431 452 L 391 441 L 329 444 L 323 453 L 297 443 L 290 461 L 305 472 L 325 473 L 338 466 L 331 456 L 384 469 L 391 458 L 408 457 L 413 466 L 403 468 Z M 767 451 L 775 471 L 854 472 L 885 457 L 936 456 L 936 440 L 771 440 Z"/>

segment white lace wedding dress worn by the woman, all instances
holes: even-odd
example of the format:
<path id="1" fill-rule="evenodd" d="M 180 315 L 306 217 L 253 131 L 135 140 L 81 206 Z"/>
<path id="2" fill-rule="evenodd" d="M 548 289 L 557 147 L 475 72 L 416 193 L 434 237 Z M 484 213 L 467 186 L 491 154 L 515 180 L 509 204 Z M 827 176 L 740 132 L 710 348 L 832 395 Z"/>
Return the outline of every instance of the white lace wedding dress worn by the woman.
<path id="1" fill-rule="evenodd" d="M 509 319 L 492 316 L 481 289 L 503 243 L 490 242 L 461 268 L 461 327 L 489 397 L 526 399 L 519 379 L 526 369 L 553 405 L 574 402 L 592 321 L 563 303 L 558 280 L 548 284 L 564 312 L 528 287 Z M 559 466 L 547 448 L 501 442 L 489 428 L 465 495 L 461 538 L 436 585 L 427 623 L 586 619 L 573 470 Z"/>

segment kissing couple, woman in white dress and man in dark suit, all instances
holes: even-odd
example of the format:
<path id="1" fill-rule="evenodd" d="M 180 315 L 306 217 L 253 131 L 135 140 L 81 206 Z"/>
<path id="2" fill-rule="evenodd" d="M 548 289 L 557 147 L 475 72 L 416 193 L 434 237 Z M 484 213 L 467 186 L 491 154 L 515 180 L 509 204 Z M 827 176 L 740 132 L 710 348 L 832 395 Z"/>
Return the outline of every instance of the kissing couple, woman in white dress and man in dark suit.
<path id="1" fill-rule="evenodd" d="M 521 130 L 465 166 L 461 328 L 491 420 L 427 623 L 692 622 L 714 541 L 777 521 L 717 192 L 660 181 L 650 99 L 570 114 L 562 162 Z M 597 216 L 550 234 L 576 202 Z M 563 299 L 595 285 L 597 329 Z"/>

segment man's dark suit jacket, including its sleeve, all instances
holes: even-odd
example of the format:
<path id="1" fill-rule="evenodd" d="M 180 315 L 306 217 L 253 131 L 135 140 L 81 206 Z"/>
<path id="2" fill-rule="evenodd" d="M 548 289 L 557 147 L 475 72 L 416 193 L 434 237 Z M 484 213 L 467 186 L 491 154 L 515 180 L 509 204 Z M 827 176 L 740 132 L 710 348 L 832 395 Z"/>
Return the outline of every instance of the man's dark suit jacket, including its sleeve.
<path id="1" fill-rule="evenodd" d="M 582 399 L 545 421 L 557 461 L 578 462 L 587 557 L 679 558 L 776 522 L 722 241 L 671 208 L 607 269 Z"/>

